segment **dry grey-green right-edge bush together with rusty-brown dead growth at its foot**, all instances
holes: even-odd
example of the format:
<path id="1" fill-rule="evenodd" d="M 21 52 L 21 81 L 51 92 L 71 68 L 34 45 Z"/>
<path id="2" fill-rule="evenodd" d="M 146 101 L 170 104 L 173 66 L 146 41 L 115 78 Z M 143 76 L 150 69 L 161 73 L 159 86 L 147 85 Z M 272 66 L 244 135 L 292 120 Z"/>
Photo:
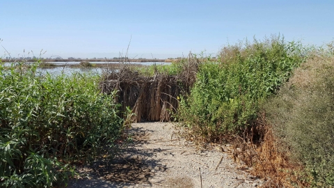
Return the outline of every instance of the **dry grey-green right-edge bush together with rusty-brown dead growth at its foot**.
<path id="1" fill-rule="evenodd" d="M 334 57 L 316 50 L 234 146 L 264 187 L 333 187 Z"/>

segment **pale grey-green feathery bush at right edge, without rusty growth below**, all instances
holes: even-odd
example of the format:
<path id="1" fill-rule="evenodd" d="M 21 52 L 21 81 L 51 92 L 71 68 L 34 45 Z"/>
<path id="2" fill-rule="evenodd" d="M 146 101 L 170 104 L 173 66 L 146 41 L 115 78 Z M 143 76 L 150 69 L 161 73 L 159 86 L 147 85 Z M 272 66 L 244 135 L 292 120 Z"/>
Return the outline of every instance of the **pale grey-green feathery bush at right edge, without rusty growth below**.
<path id="1" fill-rule="evenodd" d="M 334 57 L 321 52 L 264 105 L 281 152 L 305 164 L 312 187 L 334 186 Z"/>

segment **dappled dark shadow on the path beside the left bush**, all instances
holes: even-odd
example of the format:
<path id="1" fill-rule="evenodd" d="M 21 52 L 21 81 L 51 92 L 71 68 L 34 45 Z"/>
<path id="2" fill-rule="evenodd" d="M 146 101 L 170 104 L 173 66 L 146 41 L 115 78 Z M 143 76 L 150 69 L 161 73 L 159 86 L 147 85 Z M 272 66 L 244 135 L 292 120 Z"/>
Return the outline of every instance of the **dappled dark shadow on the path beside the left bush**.
<path id="1" fill-rule="evenodd" d="M 122 148 L 121 155 L 110 162 L 101 159 L 89 166 L 79 169 L 81 178 L 70 180 L 67 187 L 129 187 L 136 184 L 152 187 L 149 178 L 157 171 L 166 171 L 161 160 L 154 159 L 161 149 L 145 148 L 151 132 L 143 128 L 132 128 L 130 131 L 134 141 L 126 148 Z"/>

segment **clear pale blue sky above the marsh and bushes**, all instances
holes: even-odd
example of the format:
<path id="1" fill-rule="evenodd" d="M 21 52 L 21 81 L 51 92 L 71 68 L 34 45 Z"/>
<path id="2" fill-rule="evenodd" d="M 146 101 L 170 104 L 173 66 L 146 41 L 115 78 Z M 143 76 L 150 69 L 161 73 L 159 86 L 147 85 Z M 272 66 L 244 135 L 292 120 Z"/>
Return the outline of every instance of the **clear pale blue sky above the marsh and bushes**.
<path id="1" fill-rule="evenodd" d="M 323 45 L 334 40 L 333 18 L 333 0 L 0 0 L 0 57 L 214 56 L 278 34 Z"/>

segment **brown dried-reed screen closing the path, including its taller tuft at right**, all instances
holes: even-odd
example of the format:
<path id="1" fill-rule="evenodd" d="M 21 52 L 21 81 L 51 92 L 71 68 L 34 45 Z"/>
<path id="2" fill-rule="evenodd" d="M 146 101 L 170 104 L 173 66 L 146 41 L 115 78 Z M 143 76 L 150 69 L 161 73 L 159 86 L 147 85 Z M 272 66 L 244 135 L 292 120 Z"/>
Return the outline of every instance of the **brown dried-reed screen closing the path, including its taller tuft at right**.
<path id="1" fill-rule="evenodd" d="M 154 69 L 154 75 L 141 75 L 129 65 L 123 64 L 119 71 L 104 75 L 100 88 L 103 93 L 118 91 L 116 102 L 122 104 L 121 111 L 127 107 L 134 113 L 134 122 L 141 120 L 169 121 L 176 111 L 179 100 L 177 97 L 189 93 L 196 81 L 196 72 L 200 59 L 189 54 L 178 65 L 177 75 L 168 75 Z"/>

